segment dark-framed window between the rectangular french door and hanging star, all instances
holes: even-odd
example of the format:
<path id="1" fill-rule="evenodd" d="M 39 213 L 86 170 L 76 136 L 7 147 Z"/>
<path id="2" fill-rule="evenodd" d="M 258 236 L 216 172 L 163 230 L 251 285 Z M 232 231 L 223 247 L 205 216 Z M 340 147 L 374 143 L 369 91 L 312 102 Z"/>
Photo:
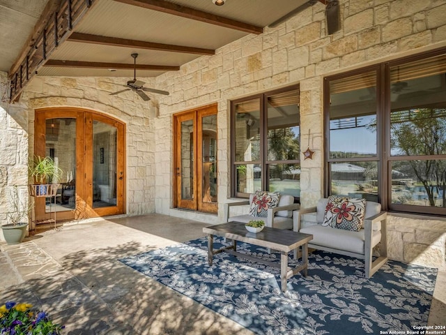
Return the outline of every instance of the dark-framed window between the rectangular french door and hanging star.
<path id="1" fill-rule="evenodd" d="M 231 193 L 300 196 L 299 88 L 231 102 Z"/>

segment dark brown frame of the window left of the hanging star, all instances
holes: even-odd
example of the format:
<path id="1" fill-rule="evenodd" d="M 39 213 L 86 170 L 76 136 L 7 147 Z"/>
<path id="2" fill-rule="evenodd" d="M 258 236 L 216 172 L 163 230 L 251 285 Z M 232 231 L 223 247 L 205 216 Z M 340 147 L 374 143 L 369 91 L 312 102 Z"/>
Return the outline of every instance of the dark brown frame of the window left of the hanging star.
<path id="1" fill-rule="evenodd" d="M 300 105 L 300 85 L 293 84 L 288 87 L 281 89 L 275 89 L 272 91 L 267 91 L 261 94 L 254 94 L 252 96 L 246 96 L 243 98 L 238 98 L 236 100 L 230 101 L 230 173 L 231 173 L 231 197 L 232 198 L 249 198 L 249 193 L 238 192 L 237 191 L 237 171 L 236 167 L 238 165 L 245 164 L 258 164 L 261 166 L 261 189 L 263 191 L 268 191 L 268 180 L 269 180 L 269 166 L 272 164 L 299 164 L 300 165 L 300 153 L 298 159 L 294 160 L 279 160 L 279 161 L 267 161 L 268 159 L 268 98 L 276 94 L 281 94 L 287 91 L 298 91 L 298 106 Z M 245 101 L 250 101 L 254 99 L 259 99 L 259 114 L 260 114 L 260 148 L 259 148 L 259 161 L 236 161 L 236 105 L 243 103 Z M 299 112 L 300 114 L 300 112 Z M 300 127 L 300 121 L 299 121 Z M 300 133 L 299 133 L 300 140 Z M 294 197 L 295 202 L 299 202 L 299 197 Z"/>

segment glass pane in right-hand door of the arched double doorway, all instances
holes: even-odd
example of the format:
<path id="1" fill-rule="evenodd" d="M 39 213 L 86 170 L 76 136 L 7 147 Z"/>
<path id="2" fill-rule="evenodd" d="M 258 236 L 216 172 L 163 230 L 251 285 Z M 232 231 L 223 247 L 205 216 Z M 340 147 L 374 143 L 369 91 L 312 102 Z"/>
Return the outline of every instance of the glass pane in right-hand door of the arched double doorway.
<path id="1" fill-rule="evenodd" d="M 117 129 L 93 121 L 93 208 L 116 206 Z"/>

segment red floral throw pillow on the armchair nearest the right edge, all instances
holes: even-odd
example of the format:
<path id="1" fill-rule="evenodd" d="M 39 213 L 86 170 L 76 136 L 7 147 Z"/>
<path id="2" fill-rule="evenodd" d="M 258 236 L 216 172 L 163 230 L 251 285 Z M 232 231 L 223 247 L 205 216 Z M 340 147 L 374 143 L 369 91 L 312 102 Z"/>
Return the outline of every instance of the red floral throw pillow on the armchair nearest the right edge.
<path id="1" fill-rule="evenodd" d="M 365 214 L 365 199 L 337 195 L 328 197 L 322 225 L 359 232 Z"/>

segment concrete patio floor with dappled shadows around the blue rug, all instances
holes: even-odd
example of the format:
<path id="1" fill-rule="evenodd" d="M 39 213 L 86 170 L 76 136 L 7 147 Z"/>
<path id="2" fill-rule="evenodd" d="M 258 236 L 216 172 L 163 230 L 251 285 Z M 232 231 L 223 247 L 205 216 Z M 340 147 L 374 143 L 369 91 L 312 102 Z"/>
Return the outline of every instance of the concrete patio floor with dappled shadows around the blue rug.
<path id="1" fill-rule="evenodd" d="M 64 334 L 253 334 L 118 258 L 203 236 L 206 223 L 160 214 L 69 223 L 0 243 L 0 303 L 42 306 Z M 445 325 L 446 273 L 429 325 Z M 442 323 L 443 322 L 443 323 Z"/>

